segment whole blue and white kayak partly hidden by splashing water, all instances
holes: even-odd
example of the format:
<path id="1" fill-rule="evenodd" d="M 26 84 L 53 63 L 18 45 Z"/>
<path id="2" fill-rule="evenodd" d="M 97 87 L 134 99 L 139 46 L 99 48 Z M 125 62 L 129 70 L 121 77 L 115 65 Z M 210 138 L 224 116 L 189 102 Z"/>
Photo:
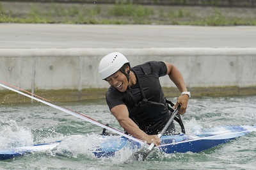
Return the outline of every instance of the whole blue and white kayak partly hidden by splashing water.
<path id="1" fill-rule="evenodd" d="M 254 131 L 256 131 L 256 126 L 241 125 L 208 128 L 203 132 L 193 134 L 163 135 L 161 137 L 161 144 L 156 146 L 155 149 L 164 153 L 198 153 Z M 113 157 L 116 152 L 123 149 L 135 152 L 148 146 L 148 144 L 141 144 L 138 141 L 120 135 L 100 135 L 99 138 L 104 139 L 104 142 L 93 147 L 91 150 L 97 158 Z M 31 152 L 53 150 L 58 148 L 60 144 L 61 141 L 56 141 L 54 143 L 3 149 L 0 150 L 0 160 L 19 157 Z"/>

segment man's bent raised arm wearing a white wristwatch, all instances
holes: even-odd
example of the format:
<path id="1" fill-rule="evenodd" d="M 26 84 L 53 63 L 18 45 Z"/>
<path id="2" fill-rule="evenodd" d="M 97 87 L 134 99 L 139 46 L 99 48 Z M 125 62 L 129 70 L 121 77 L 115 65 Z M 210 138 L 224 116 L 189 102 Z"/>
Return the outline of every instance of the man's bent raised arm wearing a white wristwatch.
<path id="1" fill-rule="evenodd" d="M 167 63 L 167 62 L 164 62 L 164 63 L 167 67 L 166 74 L 169 75 L 170 79 L 177 86 L 180 93 L 182 93 L 183 91 L 188 91 L 180 71 L 171 63 Z M 189 98 L 188 95 L 180 95 L 180 97 L 178 97 L 178 100 L 173 107 L 176 108 L 178 105 L 180 105 L 179 114 L 184 114 L 186 112 L 187 105 L 188 105 L 188 98 Z"/>

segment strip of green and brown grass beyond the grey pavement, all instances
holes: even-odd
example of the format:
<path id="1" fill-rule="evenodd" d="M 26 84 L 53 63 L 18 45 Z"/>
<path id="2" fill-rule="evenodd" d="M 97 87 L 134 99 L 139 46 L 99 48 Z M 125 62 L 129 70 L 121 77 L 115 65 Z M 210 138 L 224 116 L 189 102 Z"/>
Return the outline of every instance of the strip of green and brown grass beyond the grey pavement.
<path id="1" fill-rule="evenodd" d="M 19 5 L 15 8 L 13 3 L 0 2 L 0 23 L 256 25 L 255 13 L 241 17 L 235 11 L 233 12 L 235 14 L 230 16 L 225 9 L 214 7 L 191 10 L 193 7 L 190 9 L 185 6 L 142 6 L 131 3 L 112 5 L 26 3 L 24 5 L 26 9 L 20 12 Z M 209 12 L 198 14 L 205 9 Z M 244 11 L 248 9 L 250 8 L 244 8 Z"/>

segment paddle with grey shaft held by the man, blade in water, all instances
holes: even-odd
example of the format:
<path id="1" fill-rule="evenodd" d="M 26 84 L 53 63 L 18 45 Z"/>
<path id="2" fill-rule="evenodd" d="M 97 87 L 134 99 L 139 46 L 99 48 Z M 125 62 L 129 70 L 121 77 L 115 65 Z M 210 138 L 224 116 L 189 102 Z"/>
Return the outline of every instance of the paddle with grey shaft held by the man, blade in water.
<path id="1" fill-rule="evenodd" d="M 168 122 L 166 123 L 166 125 L 164 126 L 164 128 L 163 128 L 163 130 L 160 132 L 160 134 L 158 134 L 158 137 L 159 137 L 159 138 L 166 132 L 167 128 L 171 125 L 171 123 L 172 123 L 173 119 L 175 118 L 175 116 L 177 115 L 179 109 L 180 109 L 180 105 L 178 105 L 178 107 L 175 109 L 175 111 L 173 111 L 173 114 L 172 114 L 170 120 L 168 120 Z M 148 156 L 148 154 L 150 153 L 150 151 L 154 148 L 154 146 L 155 146 L 155 144 L 152 143 L 152 144 L 150 144 L 150 146 L 147 148 L 147 150 L 145 150 L 145 151 L 142 151 L 142 150 L 137 151 L 137 152 L 134 153 L 133 155 L 134 155 L 134 157 L 136 158 L 136 160 L 142 160 L 142 161 L 144 161 L 144 160 L 147 158 L 147 156 Z"/>

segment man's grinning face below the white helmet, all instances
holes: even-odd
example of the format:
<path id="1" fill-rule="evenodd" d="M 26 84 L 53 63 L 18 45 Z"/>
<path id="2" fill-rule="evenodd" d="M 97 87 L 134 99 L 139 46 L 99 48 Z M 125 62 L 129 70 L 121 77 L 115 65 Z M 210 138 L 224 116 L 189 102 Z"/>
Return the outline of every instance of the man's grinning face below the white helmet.
<path id="1" fill-rule="evenodd" d="M 118 89 L 121 92 L 126 91 L 128 87 L 128 80 L 127 77 L 122 73 L 120 70 L 118 70 L 113 75 L 110 75 L 106 81 L 113 86 L 114 88 Z"/>

